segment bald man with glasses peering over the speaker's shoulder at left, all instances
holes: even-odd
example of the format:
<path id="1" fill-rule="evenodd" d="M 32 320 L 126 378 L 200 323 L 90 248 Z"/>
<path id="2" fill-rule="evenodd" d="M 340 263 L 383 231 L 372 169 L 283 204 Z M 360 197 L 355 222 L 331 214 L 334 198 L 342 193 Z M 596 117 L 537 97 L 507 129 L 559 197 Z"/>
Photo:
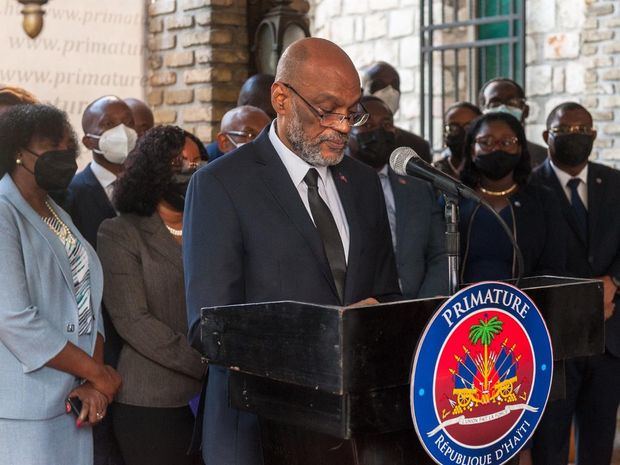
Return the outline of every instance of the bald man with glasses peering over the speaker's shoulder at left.
<path id="1" fill-rule="evenodd" d="M 217 146 L 220 152 L 232 152 L 253 141 L 269 123 L 271 123 L 271 118 L 267 116 L 267 113 L 251 105 L 243 105 L 227 111 L 222 117 L 220 132 L 217 135 Z"/>

